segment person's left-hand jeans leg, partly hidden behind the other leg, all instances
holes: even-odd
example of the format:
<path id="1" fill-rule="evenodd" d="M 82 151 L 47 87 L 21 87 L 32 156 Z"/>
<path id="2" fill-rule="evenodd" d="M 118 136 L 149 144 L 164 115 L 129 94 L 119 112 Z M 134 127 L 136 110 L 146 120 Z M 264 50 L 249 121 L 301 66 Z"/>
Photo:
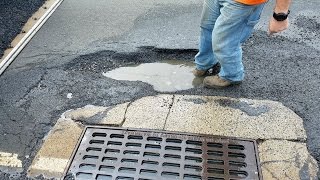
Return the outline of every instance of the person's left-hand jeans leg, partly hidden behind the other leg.
<path id="1" fill-rule="evenodd" d="M 195 56 L 196 69 L 198 70 L 206 71 L 217 64 L 212 50 L 212 30 L 219 15 L 218 0 L 205 0 L 201 16 L 199 52 Z"/>

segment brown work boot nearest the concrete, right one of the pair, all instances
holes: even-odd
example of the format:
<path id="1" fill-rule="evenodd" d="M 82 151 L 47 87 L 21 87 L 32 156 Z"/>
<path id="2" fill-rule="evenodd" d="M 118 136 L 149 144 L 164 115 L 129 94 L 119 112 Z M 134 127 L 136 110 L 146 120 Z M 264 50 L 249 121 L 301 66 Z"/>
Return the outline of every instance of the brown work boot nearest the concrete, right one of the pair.
<path id="1" fill-rule="evenodd" d="M 224 88 L 230 85 L 236 85 L 240 83 L 241 81 L 232 82 L 232 81 L 224 80 L 220 78 L 218 75 L 208 76 L 203 80 L 203 85 L 206 88 Z"/>

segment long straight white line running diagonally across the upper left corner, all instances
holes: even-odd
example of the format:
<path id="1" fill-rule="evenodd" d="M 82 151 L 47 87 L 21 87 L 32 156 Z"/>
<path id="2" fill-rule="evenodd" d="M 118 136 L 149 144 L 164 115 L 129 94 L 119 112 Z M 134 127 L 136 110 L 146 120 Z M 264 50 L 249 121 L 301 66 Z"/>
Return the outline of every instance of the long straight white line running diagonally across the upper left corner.
<path id="1" fill-rule="evenodd" d="M 29 43 L 32 37 L 39 31 L 42 25 L 49 19 L 52 13 L 59 7 L 63 0 L 57 0 L 48 11 L 39 19 L 32 29 L 21 39 L 21 41 L 13 48 L 13 50 L 0 62 L 0 75 L 13 62 L 23 48 Z"/>

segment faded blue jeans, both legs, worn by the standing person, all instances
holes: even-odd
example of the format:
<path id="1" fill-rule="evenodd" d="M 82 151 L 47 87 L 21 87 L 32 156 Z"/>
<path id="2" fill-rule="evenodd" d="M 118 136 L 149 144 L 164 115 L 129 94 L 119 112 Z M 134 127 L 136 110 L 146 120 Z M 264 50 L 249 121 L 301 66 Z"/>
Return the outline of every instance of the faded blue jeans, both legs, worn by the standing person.
<path id="1" fill-rule="evenodd" d="M 235 0 L 205 0 L 196 68 L 207 70 L 219 62 L 222 79 L 242 81 L 241 44 L 250 37 L 263 7 L 264 4 L 248 6 Z"/>

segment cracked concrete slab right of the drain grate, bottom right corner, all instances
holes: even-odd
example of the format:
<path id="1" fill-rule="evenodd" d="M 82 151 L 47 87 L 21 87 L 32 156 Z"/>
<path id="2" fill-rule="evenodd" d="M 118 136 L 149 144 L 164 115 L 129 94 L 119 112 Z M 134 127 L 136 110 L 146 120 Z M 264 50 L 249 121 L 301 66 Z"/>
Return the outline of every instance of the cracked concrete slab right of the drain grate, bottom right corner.
<path id="1" fill-rule="evenodd" d="M 305 143 L 267 140 L 258 148 L 264 179 L 318 179 L 317 161 Z"/>

